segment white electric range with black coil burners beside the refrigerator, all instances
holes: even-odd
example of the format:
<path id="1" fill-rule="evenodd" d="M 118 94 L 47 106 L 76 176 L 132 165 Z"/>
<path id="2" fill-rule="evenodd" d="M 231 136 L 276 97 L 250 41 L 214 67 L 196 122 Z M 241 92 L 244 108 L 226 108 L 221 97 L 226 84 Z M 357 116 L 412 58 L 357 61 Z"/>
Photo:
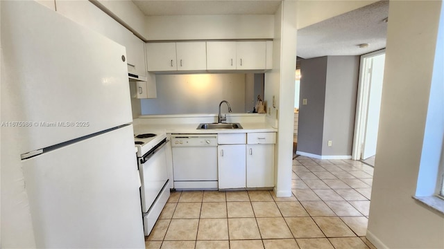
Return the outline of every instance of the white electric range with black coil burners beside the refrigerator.
<path id="1" fill-rule="evenodd" d="M 137 165 L 142 183 L 140 199 L 146 236 L 153 230 L 160 212 L 169 199 L 169 178 L 165 154 L 165 145 L 168 142 L 166 134 L 162 131 L 135 134 Z"/>

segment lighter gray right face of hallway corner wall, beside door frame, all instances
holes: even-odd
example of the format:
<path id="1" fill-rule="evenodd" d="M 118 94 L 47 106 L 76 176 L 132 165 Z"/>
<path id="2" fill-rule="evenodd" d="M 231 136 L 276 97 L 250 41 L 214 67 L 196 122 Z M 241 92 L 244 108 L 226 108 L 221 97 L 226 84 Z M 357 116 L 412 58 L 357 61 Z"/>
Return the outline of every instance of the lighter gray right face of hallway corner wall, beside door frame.
<path id="1" fill-rule="evenodd" d="M 358 79 L 359 56 L 327 57 L 323 156 L 352 154 Z"/>

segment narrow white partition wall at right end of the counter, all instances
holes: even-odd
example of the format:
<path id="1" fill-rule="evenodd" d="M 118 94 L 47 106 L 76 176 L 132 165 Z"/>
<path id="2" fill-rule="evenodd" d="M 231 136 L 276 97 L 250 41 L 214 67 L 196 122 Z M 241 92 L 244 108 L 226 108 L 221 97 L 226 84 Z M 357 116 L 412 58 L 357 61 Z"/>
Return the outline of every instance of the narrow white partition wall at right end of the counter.
<path id="1" fill-rule="evenodd" d="M 296 32 L 296 1 L 282 1 L 275 13 L 273 69 L 265 74 L 264 97 L 270 110 L 266 120 L 279 129 L 275 157 L 277 196 L 291 196 Z"/>

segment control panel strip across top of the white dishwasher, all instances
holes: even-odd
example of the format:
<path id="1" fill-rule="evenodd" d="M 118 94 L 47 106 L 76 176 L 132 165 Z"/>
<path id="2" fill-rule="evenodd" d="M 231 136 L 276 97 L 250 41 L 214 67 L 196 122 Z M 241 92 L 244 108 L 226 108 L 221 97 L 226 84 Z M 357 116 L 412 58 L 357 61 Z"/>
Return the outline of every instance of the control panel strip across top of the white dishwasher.
<path id="1" fill-rule="evenodd" d="M 215 147 L 217 134 L 171 134 L 171 147 Z"/>

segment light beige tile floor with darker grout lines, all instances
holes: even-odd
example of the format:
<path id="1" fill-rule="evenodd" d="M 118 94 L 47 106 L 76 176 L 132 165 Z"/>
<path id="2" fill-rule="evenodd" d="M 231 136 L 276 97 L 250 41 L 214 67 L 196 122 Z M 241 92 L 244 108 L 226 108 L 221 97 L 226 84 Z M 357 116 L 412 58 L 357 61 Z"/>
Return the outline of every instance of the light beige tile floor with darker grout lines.
<path id="1" fill-rule="evenodd" d="M 146 248 L 375 248 L 366 240 L 373 167 L 293 160 L 291 197 L 273 191 L 171 192 Z"/>

